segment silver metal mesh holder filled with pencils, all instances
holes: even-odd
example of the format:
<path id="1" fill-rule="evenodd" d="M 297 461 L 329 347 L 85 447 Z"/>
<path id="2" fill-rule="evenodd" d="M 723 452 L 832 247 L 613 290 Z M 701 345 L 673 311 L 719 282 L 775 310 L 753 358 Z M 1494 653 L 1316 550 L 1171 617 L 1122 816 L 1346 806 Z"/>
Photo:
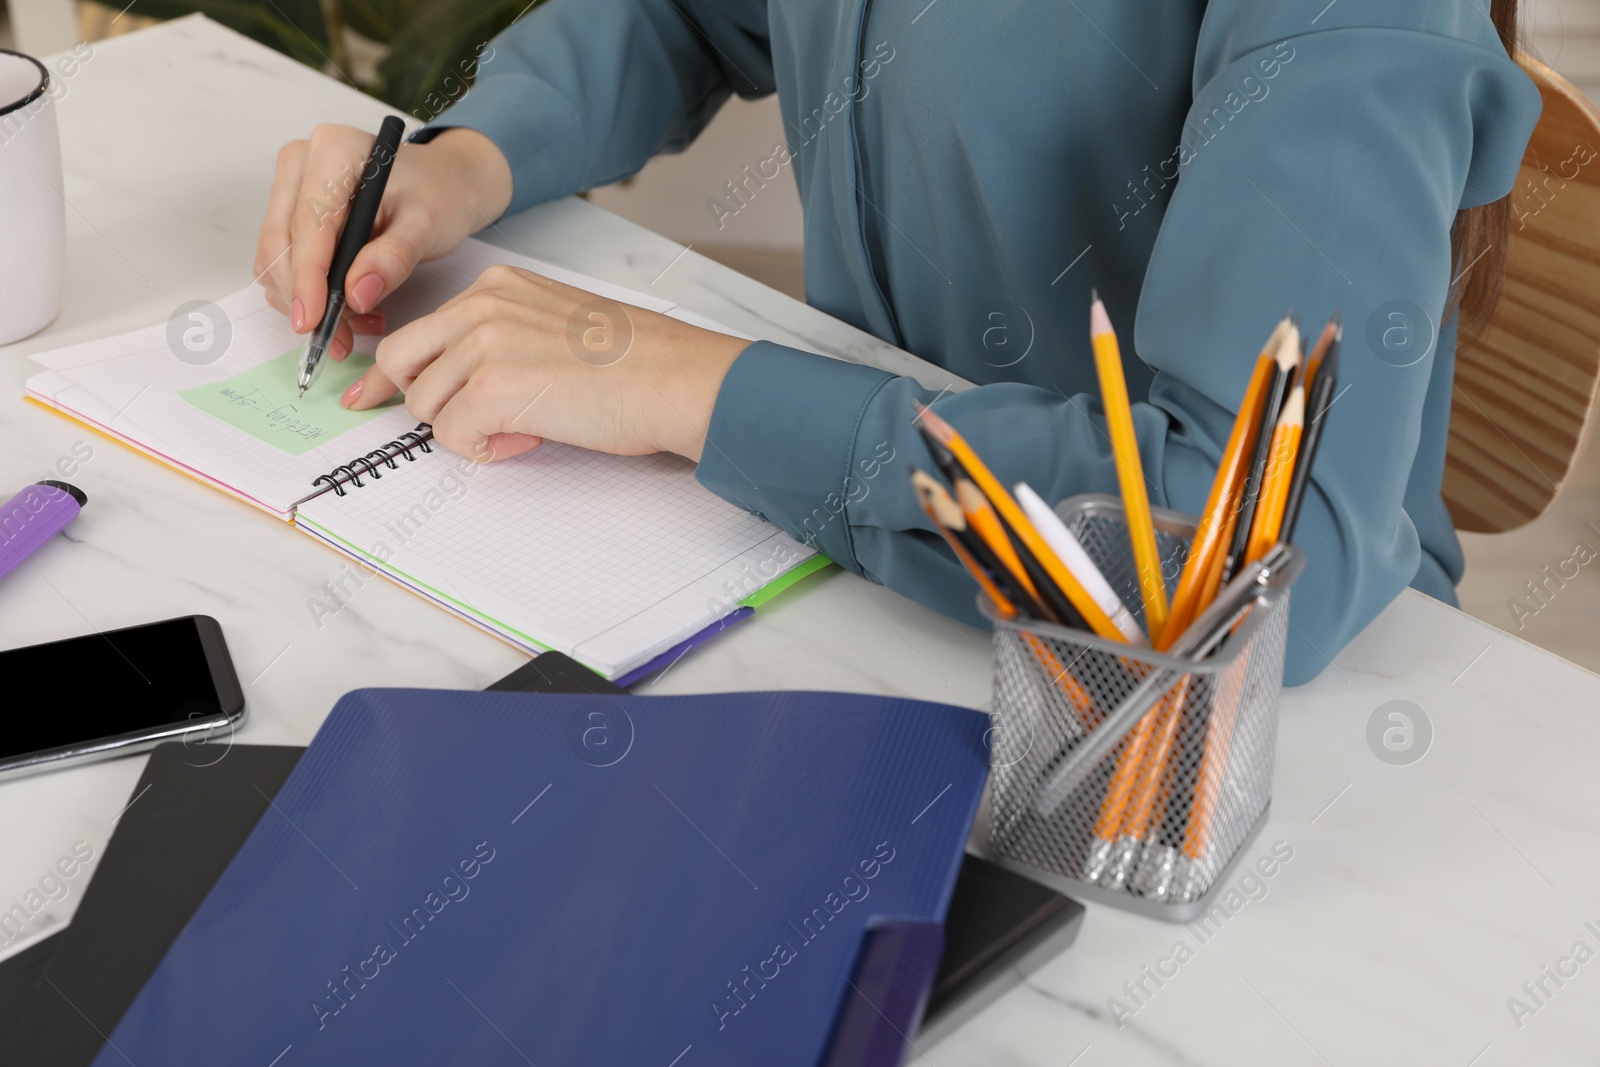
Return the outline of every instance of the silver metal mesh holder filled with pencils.
<path id="1" fill-rule="evenodd" d="M 1142 622 L 1122 504 L 1056 509 Z M 1176 582 L 1195 520 L 1155 509 Z M 1200 661 L 1077 629 L 994 621 L 990 851 L 1082 899 L 1187 921 L 1221 889 L 1267 817 L 1277 742 L 1290 549 L 1250 613 Z"/>

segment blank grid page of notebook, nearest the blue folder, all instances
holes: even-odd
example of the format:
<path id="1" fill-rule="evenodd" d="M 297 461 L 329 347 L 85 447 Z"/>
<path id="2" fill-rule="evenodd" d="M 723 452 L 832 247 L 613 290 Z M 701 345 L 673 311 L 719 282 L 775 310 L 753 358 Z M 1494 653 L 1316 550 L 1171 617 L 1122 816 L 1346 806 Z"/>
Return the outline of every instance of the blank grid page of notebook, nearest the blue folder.
<path id="1" fill-rule="evenodd" d="M 435 451 L 298 520 L 523 646 L 618 677 L 814 555 L 677 456 L 547 443 L 477 467 Z"/>

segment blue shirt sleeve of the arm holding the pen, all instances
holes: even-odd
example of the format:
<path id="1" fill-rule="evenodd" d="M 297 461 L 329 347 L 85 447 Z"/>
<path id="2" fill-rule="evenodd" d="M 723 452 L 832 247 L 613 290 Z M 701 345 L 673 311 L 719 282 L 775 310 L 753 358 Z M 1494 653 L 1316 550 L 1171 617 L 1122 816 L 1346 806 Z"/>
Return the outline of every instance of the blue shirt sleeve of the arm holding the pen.
<path id="1" fill-rule="evenodd" d="M 635 174 L 688 146 L 731 93 L 774 91 L 754 0 L 547 0 L 490 42 L 437 130 L 467 126 L 510 163 L 507 213 Z"/>

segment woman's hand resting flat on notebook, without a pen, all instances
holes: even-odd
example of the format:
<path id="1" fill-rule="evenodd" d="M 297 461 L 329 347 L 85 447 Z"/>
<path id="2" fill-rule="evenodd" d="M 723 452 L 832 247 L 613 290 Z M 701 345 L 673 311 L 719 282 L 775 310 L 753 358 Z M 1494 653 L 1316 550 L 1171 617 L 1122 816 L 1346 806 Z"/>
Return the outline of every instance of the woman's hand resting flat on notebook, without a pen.
<path id="1" fill-rule="evenodd" d="M 342 403 L 373 408 L 405 390 L 440 443 L 480 462 L 546 437 L 699 461 L 722 379 L 747 344 L 499 266 L 384 338 Z"/>

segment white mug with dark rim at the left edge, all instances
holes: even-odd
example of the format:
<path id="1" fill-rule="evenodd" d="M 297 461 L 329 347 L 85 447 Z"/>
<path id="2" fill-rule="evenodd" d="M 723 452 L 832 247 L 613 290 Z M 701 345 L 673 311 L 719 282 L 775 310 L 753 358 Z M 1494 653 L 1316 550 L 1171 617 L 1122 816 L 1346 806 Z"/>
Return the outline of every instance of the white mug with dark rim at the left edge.
<path id="1" fill-rule="evenodd" d="M 61 310 L 67 208 L 45 64 L 0 48 L 0 344 Z"/>

